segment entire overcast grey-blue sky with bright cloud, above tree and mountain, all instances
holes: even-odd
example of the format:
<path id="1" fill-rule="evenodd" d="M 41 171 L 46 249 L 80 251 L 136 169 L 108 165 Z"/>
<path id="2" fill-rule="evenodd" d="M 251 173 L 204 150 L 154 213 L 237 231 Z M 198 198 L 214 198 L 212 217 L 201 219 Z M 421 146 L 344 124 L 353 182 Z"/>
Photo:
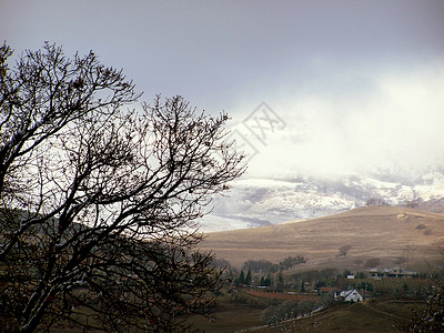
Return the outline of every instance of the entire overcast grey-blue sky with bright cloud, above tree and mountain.
<path id="1" fill-rule="evenodd" d="M 226 111 L 250 176 L 444 163 L 442 0 L 1 0 L 0 39 Z"/>

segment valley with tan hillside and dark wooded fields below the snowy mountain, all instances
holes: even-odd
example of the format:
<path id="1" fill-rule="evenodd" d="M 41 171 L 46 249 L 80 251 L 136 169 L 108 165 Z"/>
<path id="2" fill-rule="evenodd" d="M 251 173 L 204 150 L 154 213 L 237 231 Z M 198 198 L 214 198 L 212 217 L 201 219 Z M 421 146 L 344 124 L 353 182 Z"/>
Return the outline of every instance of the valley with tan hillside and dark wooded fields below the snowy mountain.
<path id="1" fill-rule="evenodd" d="M 192 322 L 210 332 L 398 332 L 396 325 L 424 305 L 423 292 L 434 283 L 430 273 L 442 262 L 443 248 L 444 214 L 389 205 L 206 233 L 200 249 L 230 263 L 229 282 L 218 297 L 214 321 Z M 240 270 L 250 274 L 245 262 L 282 264 L 289 256 L 306 262 L 271 274 L 252 270 L 251 281 L 239 283 Z M 414 275 L 374 279 L 372 268 L 401 268 Z M 263 286 L 265 275 L 274 281 L 271 286 Z M 333 301 L 335 292 L 351 289 L 364 301 Z M 294 311 L 304 306 L 321 310 L 297 317 Z"/>

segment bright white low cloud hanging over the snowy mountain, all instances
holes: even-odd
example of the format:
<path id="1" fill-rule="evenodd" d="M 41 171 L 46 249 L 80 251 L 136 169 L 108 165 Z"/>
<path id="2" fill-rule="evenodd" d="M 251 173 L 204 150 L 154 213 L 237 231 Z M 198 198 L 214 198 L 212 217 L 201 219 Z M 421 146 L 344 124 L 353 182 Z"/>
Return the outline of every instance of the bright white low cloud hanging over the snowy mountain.
<path id="1" fill-rule="evenodd" d="M 443 64 L 355 77 L 372 84 L 349 94 L 312 92 L 270 103 L 286 127 L 270 132 L 265 144 L 245 133 L 260 152 L 248 174 L 414 174 L 444 163 Z"/>

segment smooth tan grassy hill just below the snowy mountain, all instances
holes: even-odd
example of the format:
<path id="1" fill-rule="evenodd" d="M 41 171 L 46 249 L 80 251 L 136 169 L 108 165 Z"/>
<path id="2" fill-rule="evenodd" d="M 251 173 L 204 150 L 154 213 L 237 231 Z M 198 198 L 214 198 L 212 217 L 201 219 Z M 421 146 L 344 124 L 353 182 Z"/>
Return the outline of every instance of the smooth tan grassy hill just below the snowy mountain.
<path id="1" fill-rule="evenodd" d="M 350 245 L 346 256 L 339 249 Z M 380 266 L 425 269 L 444 246 L 444 214 L 400 206 L 366 206 L 314 220 L 253 229 L 209 233 L 203 251 L 214 251 L 234 266 L 246 260 L 280 262 L 302 255 L 307 262 L 296 270 L 326 266 L 366 270 Z"/>

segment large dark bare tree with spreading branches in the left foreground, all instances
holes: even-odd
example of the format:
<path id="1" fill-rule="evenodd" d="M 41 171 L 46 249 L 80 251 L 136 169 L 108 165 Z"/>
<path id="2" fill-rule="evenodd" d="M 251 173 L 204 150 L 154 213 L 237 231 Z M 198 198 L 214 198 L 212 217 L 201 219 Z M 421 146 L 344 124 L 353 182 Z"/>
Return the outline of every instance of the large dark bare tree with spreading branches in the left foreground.
<path id="1" fill-rule="evenodd" d="M 244 170 L 228 117 L 181 97 L 124 110 L 140 94 L 93 52 L 47 43 L 10 69 L 11 54 L 0 48 L 1 324 L 185 331 L 219 281 L 195 221 Z"/>

